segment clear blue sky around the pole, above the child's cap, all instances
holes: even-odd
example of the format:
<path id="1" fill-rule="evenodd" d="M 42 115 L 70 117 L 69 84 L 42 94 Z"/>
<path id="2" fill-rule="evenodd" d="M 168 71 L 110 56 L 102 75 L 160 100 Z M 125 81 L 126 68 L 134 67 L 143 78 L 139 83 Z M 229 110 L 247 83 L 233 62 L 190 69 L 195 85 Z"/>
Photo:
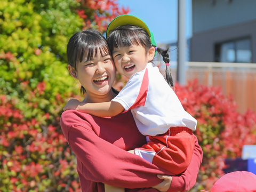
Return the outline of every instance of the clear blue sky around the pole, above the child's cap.
<path id="1" fill-rule="evenodd" d="M 118 0 L 130 14 L 146 22 L 156 43 L 177 41 L 178 0 Z M 191 37 L 191 0 L 186 0 L 186 37 Z"/>

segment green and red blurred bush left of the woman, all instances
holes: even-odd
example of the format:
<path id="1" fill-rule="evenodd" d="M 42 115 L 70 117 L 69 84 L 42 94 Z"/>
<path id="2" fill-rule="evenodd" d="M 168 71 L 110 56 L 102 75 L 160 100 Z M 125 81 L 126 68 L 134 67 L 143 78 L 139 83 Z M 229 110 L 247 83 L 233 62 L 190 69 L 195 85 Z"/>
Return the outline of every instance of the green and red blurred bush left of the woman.
<path id="1" fill-rule="evenodd" d="M 59 125 L 70 97 L 66 45 L 104 33 L 128 9 L 115 1 L 0 0 L 0 191 L 81 191 L 76 157 Z"/>

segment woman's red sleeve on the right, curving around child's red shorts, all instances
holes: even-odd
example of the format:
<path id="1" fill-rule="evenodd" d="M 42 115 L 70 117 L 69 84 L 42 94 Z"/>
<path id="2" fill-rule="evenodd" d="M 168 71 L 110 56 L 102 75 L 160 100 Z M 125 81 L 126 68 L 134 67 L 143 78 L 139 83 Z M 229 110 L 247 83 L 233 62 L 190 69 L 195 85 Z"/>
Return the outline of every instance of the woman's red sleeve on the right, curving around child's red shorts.
<path id="1" fill-rule="evenodd" d="M 199 146 L 198 140 L 195 135 L 194 137 L 195 148 L 190 165 L 188 166 L 187 170 L 183 172 L 180 176 L 172 177 L 171 187 L 169 188 L 168 192 L 188 191 L 196 183 L 197 173 L 203 159 L 203 150 Z"/>

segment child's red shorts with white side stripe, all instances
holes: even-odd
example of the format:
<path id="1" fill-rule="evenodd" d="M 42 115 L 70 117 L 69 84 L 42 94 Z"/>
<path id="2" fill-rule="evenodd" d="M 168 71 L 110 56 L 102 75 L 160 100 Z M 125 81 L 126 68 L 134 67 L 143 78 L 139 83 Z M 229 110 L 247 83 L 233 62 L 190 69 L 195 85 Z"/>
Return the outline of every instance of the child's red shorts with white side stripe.
<path id="1" fill-rule="evenodd" d="M 171 127 L 164 134 L 147 137 L 147 144 L 134 149 L 136 155 L 173 174 L 187 169 L 195 147 L 192 130 Z"/>

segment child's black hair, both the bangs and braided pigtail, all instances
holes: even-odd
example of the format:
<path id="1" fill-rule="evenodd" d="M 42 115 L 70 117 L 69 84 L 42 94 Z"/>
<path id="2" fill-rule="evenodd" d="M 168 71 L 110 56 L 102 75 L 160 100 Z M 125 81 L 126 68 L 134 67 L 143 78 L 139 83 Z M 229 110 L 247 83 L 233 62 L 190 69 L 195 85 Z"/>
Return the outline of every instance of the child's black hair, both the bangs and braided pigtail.
<path id="1" fill-rule="evenodd" d="M 107 37 L 107 42 L 111 54 L 113 53 L 114 48 L 132 45 L 141 45 L 147 54 L 150 47 L 153 46 L 148 33 L 143 28 L 134 25 L 116 27 L 114 30 L 110 31 L 110 34 Z M 168 50 L 157 47 L 156 51 L 162 55 L 165 63 L 169 63 Z M 166 66 L 165 80 L 170 86 L 174 86 L 170 66 Z"/>

